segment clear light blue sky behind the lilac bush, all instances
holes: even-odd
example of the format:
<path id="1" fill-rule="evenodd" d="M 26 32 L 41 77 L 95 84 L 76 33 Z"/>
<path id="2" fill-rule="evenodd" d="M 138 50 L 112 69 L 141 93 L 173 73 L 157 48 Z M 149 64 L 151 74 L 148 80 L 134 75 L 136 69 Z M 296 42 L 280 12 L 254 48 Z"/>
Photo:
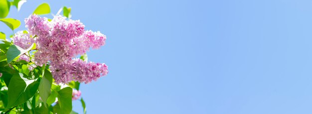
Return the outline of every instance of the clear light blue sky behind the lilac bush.
<path id="1" fill-rule="evenodd" d="M 42 2 L 107 35 L 88 114 L 312 113 L 312 0 L 29 0 L 8 17 Z"/>

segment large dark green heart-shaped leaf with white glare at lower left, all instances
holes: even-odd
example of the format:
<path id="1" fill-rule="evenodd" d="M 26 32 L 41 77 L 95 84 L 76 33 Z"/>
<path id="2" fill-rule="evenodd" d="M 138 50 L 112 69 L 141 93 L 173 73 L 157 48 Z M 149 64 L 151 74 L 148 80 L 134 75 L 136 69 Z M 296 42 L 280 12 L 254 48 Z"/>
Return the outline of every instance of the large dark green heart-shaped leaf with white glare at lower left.
<path id="1" fill-rule="evenodd" d="M 7 106 L 5 109 L 25 103 L 37 92 L 39 81 L 23 78 L 23 73 L 16 73 L 10 80 L 7 90 Z"/>

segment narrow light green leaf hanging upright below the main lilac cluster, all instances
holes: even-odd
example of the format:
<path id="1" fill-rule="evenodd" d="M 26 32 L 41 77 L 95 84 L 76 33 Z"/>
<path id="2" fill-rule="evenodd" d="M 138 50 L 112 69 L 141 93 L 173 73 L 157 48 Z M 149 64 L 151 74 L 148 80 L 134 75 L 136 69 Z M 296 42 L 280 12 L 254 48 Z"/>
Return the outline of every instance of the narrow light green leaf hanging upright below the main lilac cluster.
<path id="1" fill-rule="evenodd" d="M 46 102 L 48 97 L 51 95 L 51 86 L 52 86 L 52 74 L 50 71 L 46 70 L 44 71 L 44 75 L 42 76 L 42 79 L 39 84 L 39 95 L 41 100 L 44 103 L 44 106 L 46 106 Z"/>

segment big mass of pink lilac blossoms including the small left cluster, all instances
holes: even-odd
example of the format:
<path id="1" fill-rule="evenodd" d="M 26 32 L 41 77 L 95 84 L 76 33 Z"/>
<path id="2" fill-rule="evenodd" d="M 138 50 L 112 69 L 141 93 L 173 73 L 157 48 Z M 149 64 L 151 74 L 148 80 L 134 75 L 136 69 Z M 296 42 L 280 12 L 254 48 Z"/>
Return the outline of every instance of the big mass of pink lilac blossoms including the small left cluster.
<path id="1" fill-rule="evenodd" d="M 90 83 L 108 73 L 105 64 L 72 59 L 86 53 L 89 48 L 97 49 L 104 45 L 106 36 L 100 32 L 85 30 L 79 20 L 66 20 L 66 17 L 60 15 L 51 21 L 46 17 L 30 15 L 25 19 L 25 24 L 29 34 L 15 34 L 14 44 L 27 47 L 28 42 L 36 43 L 34 62 L 42 66 L 49 61 L 55 83 Z M 36 37 L 30 38 L 30 35 Z"/>

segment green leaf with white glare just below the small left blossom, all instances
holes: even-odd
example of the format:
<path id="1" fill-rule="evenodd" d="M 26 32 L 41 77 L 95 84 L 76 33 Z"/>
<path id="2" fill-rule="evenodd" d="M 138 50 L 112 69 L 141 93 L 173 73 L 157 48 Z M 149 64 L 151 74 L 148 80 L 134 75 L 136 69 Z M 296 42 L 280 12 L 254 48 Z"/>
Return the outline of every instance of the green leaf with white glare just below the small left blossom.
<path id="1" fill-rule="evenodd" d="M 10 47 L 8 47 L 8 50 L 6 52 L 7 63 L 12 62 L 13 59 L 15 59 L 16 57 L 28 52 L 33 46 L 34 44 L 32 44 L 28 49 L 23 49 L 17 45 L 11 45 Z"/>

